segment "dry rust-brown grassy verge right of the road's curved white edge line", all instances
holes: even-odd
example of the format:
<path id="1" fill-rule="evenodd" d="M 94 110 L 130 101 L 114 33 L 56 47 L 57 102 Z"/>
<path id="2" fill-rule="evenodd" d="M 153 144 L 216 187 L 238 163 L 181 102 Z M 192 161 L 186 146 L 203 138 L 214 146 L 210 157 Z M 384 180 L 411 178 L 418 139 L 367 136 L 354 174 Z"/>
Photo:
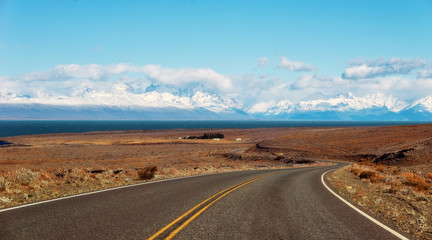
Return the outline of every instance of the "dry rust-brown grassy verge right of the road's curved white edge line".
<path id="1" fill-rule="evenodd" d="M 432 181 L 406 168 L 352 164 L 327 179 L 354 204 L 405 231 L 412 239 L 432 239 Z"/>

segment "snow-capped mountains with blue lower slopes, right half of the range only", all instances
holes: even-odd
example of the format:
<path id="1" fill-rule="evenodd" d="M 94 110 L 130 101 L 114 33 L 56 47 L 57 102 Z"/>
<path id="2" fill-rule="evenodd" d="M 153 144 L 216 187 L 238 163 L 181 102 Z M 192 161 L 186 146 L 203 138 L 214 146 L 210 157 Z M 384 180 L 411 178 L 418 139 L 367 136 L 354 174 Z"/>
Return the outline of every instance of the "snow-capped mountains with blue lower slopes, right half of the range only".
<path id="1" fill-rule="evenodd" d="M 315 96 L 296 104 L 287 100 L 259 103 L 248 113 L 259 118 L 319 119 L 319 120 L 432 120 L 432 97 L 409 103 L 405 100 L 372 94 L 356 97 L 352 93 L 337 96 Z"/>

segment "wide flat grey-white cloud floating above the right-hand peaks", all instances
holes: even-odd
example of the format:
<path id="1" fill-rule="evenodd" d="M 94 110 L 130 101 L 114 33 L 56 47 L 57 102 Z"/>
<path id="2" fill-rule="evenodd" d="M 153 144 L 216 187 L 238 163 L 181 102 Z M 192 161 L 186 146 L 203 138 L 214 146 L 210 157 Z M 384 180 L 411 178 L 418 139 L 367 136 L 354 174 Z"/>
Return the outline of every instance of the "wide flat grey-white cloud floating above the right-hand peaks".
<path id="1" fill-rule="evenodd" d="M 359 79 L 387 76 L 393 74 L 409 74 L 417 68 L 424 67 L 424 59 L 390 58 L 389 60 L 356 60 L 342 74 L 343 78 Z"/>

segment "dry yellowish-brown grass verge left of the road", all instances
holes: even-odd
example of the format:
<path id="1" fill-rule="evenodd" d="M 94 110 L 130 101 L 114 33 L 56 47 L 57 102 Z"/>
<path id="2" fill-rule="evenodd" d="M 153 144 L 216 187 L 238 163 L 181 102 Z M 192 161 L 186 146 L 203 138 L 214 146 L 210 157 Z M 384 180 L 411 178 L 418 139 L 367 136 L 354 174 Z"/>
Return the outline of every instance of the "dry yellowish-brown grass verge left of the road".
<path id="1" fill-rule="evenodd" d="M 134 183 L 133 172 L 114 174 L 104 169 L 91 173 L 86 168 L 53 171 L 21 168 L 0 172 L 0 208 Z"/>

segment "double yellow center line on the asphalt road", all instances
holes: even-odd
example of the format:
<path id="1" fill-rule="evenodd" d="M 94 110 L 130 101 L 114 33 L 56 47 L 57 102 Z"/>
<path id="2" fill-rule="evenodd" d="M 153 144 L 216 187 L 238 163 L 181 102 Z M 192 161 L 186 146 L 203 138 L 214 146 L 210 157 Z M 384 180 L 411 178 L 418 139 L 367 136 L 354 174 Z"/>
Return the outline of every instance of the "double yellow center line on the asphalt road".
<path id="1" fill-rule="evenodd" d="M 181 215 L 180 217 L 176 218 L 174 221 L 170 222 L 165 227 L 161 228 L 159 231 L 157 231 L 155 234 L 153 234 L 147 240 L 156 239 L 159 235 L 161 235 L 162 233 L 164 233 L 165 231 L 167 231 L 173 225 L 175 225 L 179 221 L 183 220 L 184 222 L 180 226 L 178 226 L 177 228 L 175 228 L 174 230 L 172 230 L 168 234 L 168 236 L 166 236 L 164 238 L 166 240 L 172 239 L 181 230 L 183 230 L 187 225 L 189 225 L 189 223 L 191 223 L 195 218 L 197 218 L 199 215 L 201 215 L 201 213 L 203 213 L 205 210 L 207 210 L 211 205 L 213 205 L 215 202 L 219 201 L 221 198 L 225 197 L 226 195 L 228 195 L 229 193 L 235 191 L 236 189 L 239 189 L 239 188 L 241 188 L 241 187 L 243 187 L 243 186 L 245 186 L 245 185 L 247 185 L 249 183 L 258 181 L 258 180 L 260 180 L 262 178 L 265 178 L 265 177 L 267 177 L 269 175 L 271 175 L 271 174 L 265 174 L 265 175 L 262 175 L 262 176 L 259 176 L 259 177 L 255 177 L 255 178 L 246 180 L 244 182 L 241 182 L 239 184 L 236 184 L 234 186 L 231 186 L 229 188 L 226 188 L 226 189 L 224 189 L 224 190 L 216 193 L 215 195 L 207 198 L 206 200 L 202 201 L 201 203 L 199 203 L 195 207 L 191 208 L 189 211 L 185 212 L 183 215 Z M 200 207 L 201 207 L 201 209 L 199 209 Z M 199 210 L 197 210 L 197 209 L 199 209 Z M 195 211 L 195 210 L 197 210 L 197 211 Z M 193 212 L 195 212 L 195 213 L 192 214 Z"/>

